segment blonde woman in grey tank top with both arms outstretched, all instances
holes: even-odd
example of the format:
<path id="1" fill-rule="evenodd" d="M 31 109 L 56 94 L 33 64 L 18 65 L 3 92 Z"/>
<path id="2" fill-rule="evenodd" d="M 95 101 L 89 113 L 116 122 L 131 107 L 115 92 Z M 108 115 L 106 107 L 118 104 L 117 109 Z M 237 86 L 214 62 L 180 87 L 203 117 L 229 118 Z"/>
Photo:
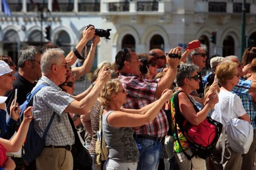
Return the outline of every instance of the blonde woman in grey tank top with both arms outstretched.
<path id="1" fill-rule="evenodd" d="M 109 150 L 106 170 L 136 170 L 139 150 L 133 138 L 132 127 L 139 127 L 152 121 L 163 104 L 172 96 L 172 90 L 165 90 L 162 97 L 141 109 L 121 108 L 128 93 L 118 79 L 108 81 L 102 89 L 100 100 L 106 107 L 102 115 L 102 130 Z"/>

